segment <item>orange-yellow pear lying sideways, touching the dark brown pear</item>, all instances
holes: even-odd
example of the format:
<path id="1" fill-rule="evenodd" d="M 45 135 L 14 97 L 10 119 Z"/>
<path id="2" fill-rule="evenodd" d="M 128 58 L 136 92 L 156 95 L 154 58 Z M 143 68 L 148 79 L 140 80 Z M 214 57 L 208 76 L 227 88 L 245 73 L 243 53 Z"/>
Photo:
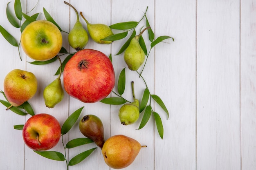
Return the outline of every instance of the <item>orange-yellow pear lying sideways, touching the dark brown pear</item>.
<path id="1" fill-rule="evenodd" d="M 125 135 L 115 135 L 105 141 L 101 152 L 110 168 L 121 169 L 135 160 L 141 147 L 146 146 Z"/>

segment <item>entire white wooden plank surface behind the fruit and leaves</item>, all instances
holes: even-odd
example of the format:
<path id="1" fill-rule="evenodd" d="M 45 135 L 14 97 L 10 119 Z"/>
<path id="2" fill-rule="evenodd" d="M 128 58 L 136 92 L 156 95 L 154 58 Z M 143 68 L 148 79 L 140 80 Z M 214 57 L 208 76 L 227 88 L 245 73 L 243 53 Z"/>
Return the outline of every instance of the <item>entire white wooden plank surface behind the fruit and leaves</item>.
<path id="1" fill-rule="evenodd" d="M 6 5 L 0 5 L 0 25 L 20 40 L 20 30 L 9 24 Z M 36 0 L 21 0 L 30 11 Z M 84 104 L 65 95 L 55 108 L 45 107 L 43 89 L 56 77 L 58 62 L 44 66 L 29 64 L 30 58 L 0 36 L 0 82 L 14 68 L 33 72 L 38 78 L 38 92 L 29 100 L 35 113 L 54 115 L 61 125 L 76 109 L 85 106 L 81 117 L 94 114 L 101 118 L 106 139 L 123 134 L 137 139 L 147 148 L 126 170 L 255 170 L 256 169 L 256 2 L 255 0 L 69 0 L 82 11 L 89 22 L 114 24 L 139 21 L 148 6 L 147 16 L 155 36 L 169 35 L 150 52 L 143 76 L 151 93 L 162 98 L 170 117 L 153 105 L 162 117 L 164 139 L 157 133 L 153 117 L 141 130 L 136 124 L 122 126 L 117 116 L 120 106 L 102 103 Z M 14 0 L 10 3 L 13 9 Z M 43 7 L 65 31 L 74 25 L 75 13 L 63 0 L 39 0 L 30 13 Z M 81 19 L 81 22 L 83 20 Z M 144 22 L 145 23 L 145 22 Z M 144 24 L 143 23 L 143 24 Z M 83 22 L 85 26 L 85 22 Z M 139 32 L 139 30 L 137 30 Z M 145 37 L 147 34 L 144 35 Z M 144 38 L 145 39 L 145 38 Z M 63 46 L 72 51 L 63 33 Z M 86 48 L 112 53 L 118 76 L 126 65 L 122 55 L 115 56 L 125 40 L 112 45 L 90 40 Z M 149 44 L 148 44 L 149 45 Z M 135 81 L 135 94 L 142 96 L 144 83 L 136 73 L 127 72 L 124 97 L 132 99 L 130 81 Z M 3 90 L 3 83 L 0 83 Z M 114 90 L 117 90 L 116 88 Z M 0 99 L 4 99 L 0 96 Z M 37 155 L 24 145 L 21 131 L 13 125 L 24 124 L 30 117 L 20 116 L 0 105 L 0 169 L 1 170 L 65 170 L 65 162 L 52 161 Z M 141 118 L 139 119 L 141 120 Z M 64 142 L 83 137 L 76 124 L 64 135 Z M 69 159 L 94 147 L 79 146 L 67 152 Z M 62 152 L 59 142 L 52 150 Z M 70 170 L 108 170 L 101 150 L 95 150 Z"/>

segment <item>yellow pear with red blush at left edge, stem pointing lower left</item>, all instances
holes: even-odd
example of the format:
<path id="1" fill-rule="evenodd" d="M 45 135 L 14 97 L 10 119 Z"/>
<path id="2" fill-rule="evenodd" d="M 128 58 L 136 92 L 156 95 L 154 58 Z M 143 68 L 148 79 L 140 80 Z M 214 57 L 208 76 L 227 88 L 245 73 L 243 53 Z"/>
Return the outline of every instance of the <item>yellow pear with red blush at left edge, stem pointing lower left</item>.
<path id="1" fill-rule="evenodd" d="M 29 71 L 14 69 L 4 78 L 4 94 L 11 106 L 22 105 L 31 99 L 36 91 L 36 76 Z"/>

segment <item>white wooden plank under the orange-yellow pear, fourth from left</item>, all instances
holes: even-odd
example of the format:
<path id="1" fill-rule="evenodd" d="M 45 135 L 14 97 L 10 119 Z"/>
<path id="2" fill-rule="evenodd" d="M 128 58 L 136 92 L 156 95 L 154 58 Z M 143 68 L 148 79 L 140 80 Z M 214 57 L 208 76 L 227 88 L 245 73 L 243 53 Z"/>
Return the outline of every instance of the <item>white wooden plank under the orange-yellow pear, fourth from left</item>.
<path id="1" fill-rule="evenodd" d="M 131 0 L 131 1 L 122 1 L 122 2 L 119 0 L 112 1 L 112 24 L 115 24 L 118 22 L 128 22 L 128 21 L 139 22 L 139 20 L 141 20 L 141 18 L 144 16 L 144 12 L 146 12 L 147 7 L 148 7 L 148 11 L 147 11 L 148 20 L 150 21 L 150 24 L 154 25 L 154 1 L 153 0 L 148 0 L 148 1 Z M 139 34 L 139 32 L 141 31 L 140 29 L 142 27 L 143 28 L 146 27 L 145 18 L 141 20 L 141 22 L 135 28 L 136 35 Z M 115 33 L 121 32 L 118 30 L 113 30 L 113 31 Z M 139 99 L 139 101 L 141 101 L 143 91 L 146 88 L 143 80 L 139 78 L 139 75 L 135 71 L 130 71 L 128 69 L 128 66 L 124 62 L 124 53 L 120 55 L 115 55 L 117 54 L 121 46 L 126 42 L 126 40 L 128 40 L 131 33 L 132 31 L 129 31 L 126 38 L 113 42 L 112 58 L 113 58 L 113 64 L 115 66 L 115 72 L 116 72 L 117 78 L 121 70 L 123 68 L 126 68 L 126 88 L 122 96 L 128 99 L 129 101 L 133 100 L 131 82 L 134 81 L 135 97 Z M 142 36 L 146 44 L 149 45 L 148 42 L 146 41 L 148 33 L 144 32 Z M 153 58 L 150 58 L 147 61 L 147 67 L 144 70 L 144 73 L 145 73 L 144 78 L 148 83 L 148 88 L 152 90 L 154 88 L 154 84 L 153 84 L 154 70 L 152 69 L 153 65 L 154 65 Z M 141 69 L 142 68 L 139 68 L 139 71 L 141 71 Z M 117 87 L 115 87 L 114 90 L 117 92 Z M 139 120 L 135 124 L 124 126 L 121 124 L 118 117 L 118 112 L 120 107 L 121 105 L 111 106 L 111 136 L 123 134 L 133 139 L 136 139 L 137 141 L 139 141 L 139 143 L 141 143 L 141 145 L 147 145 L 147 148 L 141 148 L 139 155 L 136 157 L 135 161 L 126 169 L 142 170 L 146 168 L 148 170 L 153 170 L 154 169 L 154 149 L 153 149 L 154 148 L 154 141 L 153 141 L 154 126 L 152 124 L 152 121 L 149 121 L 144 128 L 140 130 L 136 130 L 139 128 L 139 124 L 142 119 L 142 115 L 140 115 Z"/>

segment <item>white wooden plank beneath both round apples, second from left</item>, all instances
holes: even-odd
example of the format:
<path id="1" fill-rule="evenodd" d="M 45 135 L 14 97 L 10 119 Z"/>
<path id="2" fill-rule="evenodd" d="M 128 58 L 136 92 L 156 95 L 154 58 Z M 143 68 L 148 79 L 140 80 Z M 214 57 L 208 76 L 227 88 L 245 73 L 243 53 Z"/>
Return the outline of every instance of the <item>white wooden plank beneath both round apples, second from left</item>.
<path id="1" fill-rule="evenodd" d="M 58 6 L 63 6 L 61 7 L 60 12 L 56 12 L 56 8 Z M 34 8 L 34 9 L 33 9 Z M 57 1 L 39 1 L 38 4 L 35 2 L 30 2 L 27 4 L 27 11 L 31 11 L 29 15 L 33 15 L 34 13 L 40 12 L 41 14 L 38 16 L 38 20 L 45 20 L 45 15 L 43 12 L 43 8 L 52 16 L 52 18 L 55 20 L 55 22 L 61 27 L 61 29 L 68 31 L 68 20 L 69 18 L 69 13 L 68 13 L 68 7 L 64 6 L 63 4 L 60 4 L 60 2 Z M 63 46 L 67 49 L 68 48 L 68 43 L 65 40 L 67 38 L 67 33 L 63 33 Z M 64 57 L 66 55 L 61 56 L 61 60 L 64 60 Z M 27 62 L 32 62 L 31 58 L 27 57 L 26 59 Z M 65 94 L 64 99 L 57 104 L 54 108 L 47 108 L 45 106 L 44 98 L 43 98 L 43 90 L 44 88 L 50 84 L 54 79 L 56 79 L 58 76 L 54 75 L 60 66 L 60 63 L 58 60 L 56 60 L 53 63 L 46 64 L 46 65 L 34 65 L 34 64 L 29 64 L 27 63 L 27 70 L 33 72 L 37 79 L 38 79 L 38 91 L 36 95 L 30 100 L 31 105 L 34 108 L 35 114 L 38 113 L 47 113 L 50 115 L 53 115 L 56 117 L 56 119 L 59 121 L 60 125 L 64 123 L 65 119 L 68 116 L 68 101 L 69 97 L 67 94 Z M 61 81 L 62 81 L 62 76 L 61 76 Z M 62 82 L 63 86 L 63 82 Z M 29 117 L 26 117 L 28 119 Z M 66 141 L 67 137 L 64 136 L 64 141 Z M 58 144 L 51 149 L 52 151 L 57 151 L 61 152 L 64 154 L 64 149 L 63 145 L 61 143 L 61 140 L 58 142 Z M 65 169 L 66 165 L 65 162 L 63 161 L 53 161 L 51 159 L 44 158 L 35 152 L 25 146 L 25 170 L 28 169 L 37 169 L 37 167 L 44 166 L 47 169 Z M 40 161 L 38 161 L 40 160 Z"/>

